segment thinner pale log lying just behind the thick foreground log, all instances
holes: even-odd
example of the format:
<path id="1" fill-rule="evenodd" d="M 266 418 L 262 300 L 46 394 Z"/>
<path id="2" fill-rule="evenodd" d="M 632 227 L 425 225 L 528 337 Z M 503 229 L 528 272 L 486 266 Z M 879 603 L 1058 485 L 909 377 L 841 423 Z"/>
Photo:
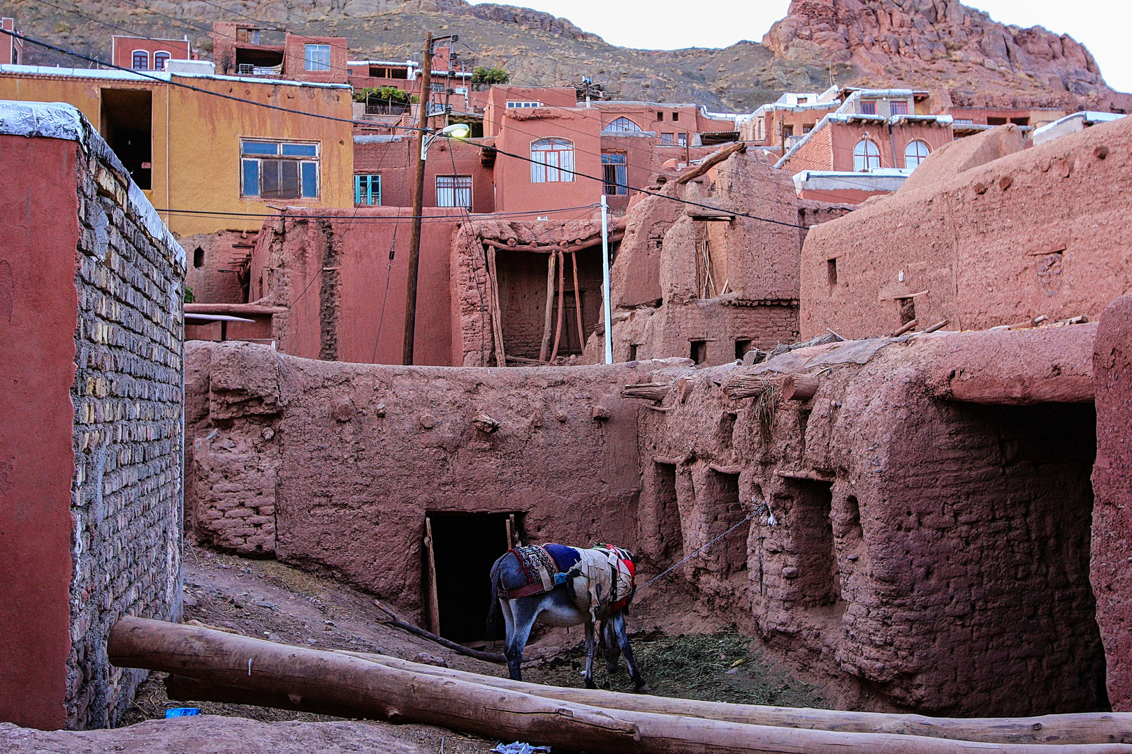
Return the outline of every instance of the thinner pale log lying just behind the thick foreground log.
<path id="1" fill-rule="evenodd" d="M 824 480 L 821 476 L 779 473 L 779 476 Z M 497 688 L 523 691 L 529 694 L 589 704 L 608 710 L 683 714 L 688 717 L 782 728 L 812 728 L 841 733 L 890 733 L 904 736 L 927 736 L 1001 744 L 1108 744 L 1132 743 L 1132 713 L 1086 712 L 1046 714 L 1035 718 L 931 718 L 924 714 L 886 712 L 847 712 L 809 708 L 782 708 L 757 704 L 702 702 L 692 699 L 626 694 L 620 692 L 543 686 L 496 676 L 482 676 L 466 670 L 438 668 L 401 660 L 385 655 L 342 651 L 354 657 L 391 667 L 461 678 Z M 1041 752 L 1053 749 L 1043 748 Z"/>

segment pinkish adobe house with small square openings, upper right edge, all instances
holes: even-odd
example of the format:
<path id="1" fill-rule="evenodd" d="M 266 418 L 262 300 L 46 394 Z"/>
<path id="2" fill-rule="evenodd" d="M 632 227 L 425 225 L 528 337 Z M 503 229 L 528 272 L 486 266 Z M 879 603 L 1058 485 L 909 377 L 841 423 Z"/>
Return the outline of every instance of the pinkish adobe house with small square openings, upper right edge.
<path id="1" fill-rule="evenodd" d="M 807 235 L 800 337 L 1095 320 L 1132 291 L 1130 145 L 1125 118 L 1026 150 L 1014 125 L 941 149 L 894 196 Z"/>

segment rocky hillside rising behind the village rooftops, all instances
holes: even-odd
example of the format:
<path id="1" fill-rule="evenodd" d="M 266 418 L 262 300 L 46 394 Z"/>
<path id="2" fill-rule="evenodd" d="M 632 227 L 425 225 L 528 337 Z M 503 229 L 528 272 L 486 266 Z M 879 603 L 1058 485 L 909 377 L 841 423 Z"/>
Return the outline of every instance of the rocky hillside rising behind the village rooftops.
<path id="1" fill-rule="evenodd" d="M 362 58 L 417 57 L 427 29 L 458 34 L 469 66 L 501 64 L 518 84 L 590 76 L 618 98 L 735 112 L 831 80 L 929 88 L 955 104 L 1132 110 L 1132 97 L 1109 89 L 1092 55 L 1069 36 L 1004 26 L 955 0 L 794 0 L 761 44 L 676 51 L 618 47 L 548 14 L 463 0 L 0 0 L 0 15 L 100 60 L 109 57 L 111 34 L 188 35 L 207 55 L 213 20 L 255 19 L 345 36 Z M 27 58 L 76 64 L 34 46 Z"/>

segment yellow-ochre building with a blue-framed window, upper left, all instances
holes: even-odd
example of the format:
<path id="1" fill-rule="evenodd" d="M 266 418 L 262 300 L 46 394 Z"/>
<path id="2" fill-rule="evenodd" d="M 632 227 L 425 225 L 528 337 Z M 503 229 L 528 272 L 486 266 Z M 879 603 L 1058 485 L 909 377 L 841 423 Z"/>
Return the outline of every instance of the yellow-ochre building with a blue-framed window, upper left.
<path id="1" fill-rule="evenodd" d="M 242 215 L 272 214 L 271 205 L 353 207 L 345 85 L 0 66 L 0 99 L 83 111 L 178 236 L 258 229 L 260 218 Z"/>

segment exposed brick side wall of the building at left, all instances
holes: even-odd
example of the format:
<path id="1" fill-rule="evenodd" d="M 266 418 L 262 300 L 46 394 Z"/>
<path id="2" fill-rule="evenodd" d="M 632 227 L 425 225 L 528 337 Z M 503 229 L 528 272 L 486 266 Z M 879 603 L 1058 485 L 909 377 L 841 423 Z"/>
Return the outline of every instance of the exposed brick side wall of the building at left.
<path id="1" fill-rule="evenodd" d="M 106 660 L 122 615 L 181 609 L 185 257 L 105 144 L 80 155 L 67 719 L 117 722 L 145 671 Z M 156 222 L 155 222 L 156 220 Z"/>

